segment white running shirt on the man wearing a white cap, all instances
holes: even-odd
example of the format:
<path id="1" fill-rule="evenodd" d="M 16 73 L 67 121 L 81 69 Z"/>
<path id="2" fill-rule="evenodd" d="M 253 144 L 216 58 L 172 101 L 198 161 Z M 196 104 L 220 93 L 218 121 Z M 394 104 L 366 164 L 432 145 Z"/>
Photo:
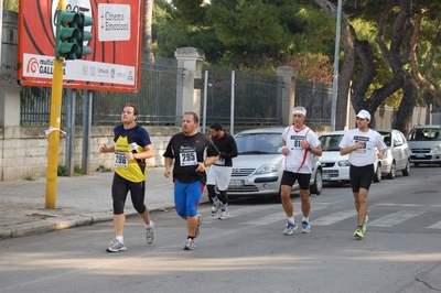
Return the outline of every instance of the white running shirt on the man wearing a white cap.
<path id="1" fill-rule="evenodd" d="M 384 150 L 387 148 L 383 141 L 381 135 L 372 129 L 367 132 L 362 132 L 358 128 L 347 131 L 338 146 L 342 149 L 349 148 L 357 143 L 357 141 L 363 141 L 363 148 L 357 149 L 349 153 L 349 163 L 354 166 L 366 166 L 375 163 L 377 160 L 377 150 Z"/>

